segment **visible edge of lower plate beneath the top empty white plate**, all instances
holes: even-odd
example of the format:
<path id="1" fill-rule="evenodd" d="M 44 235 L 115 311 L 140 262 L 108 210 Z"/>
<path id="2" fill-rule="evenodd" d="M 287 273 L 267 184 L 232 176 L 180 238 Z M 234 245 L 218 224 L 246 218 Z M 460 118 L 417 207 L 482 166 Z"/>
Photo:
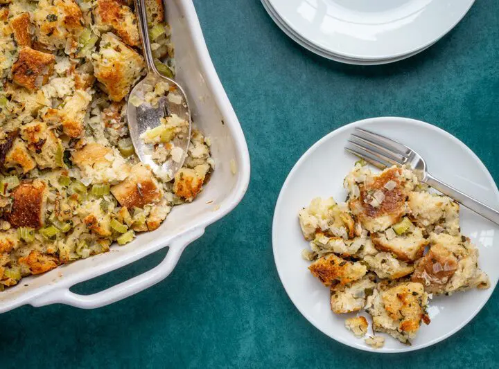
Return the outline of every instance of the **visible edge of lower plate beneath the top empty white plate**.
<path id="1" fill-rule="evenodd" d="M 389 64 L 389 63 L 394 63 L 394 62 L 399 62 L 400 60 L 407 59 L 408 57 L 412 57 L 416 54 L 421 53 L 422 51 L 425 51 L 427 48 L 432 46 L 432 44 L 421 48 L 418 51 L 414 51 L 414 53 L 410 53 L 407 55 L 403 55 L 400 57 L 394 57 L 393 59 L 387 59 L 387 60 L 360 60 L 360 59 L 349 59 L 347 57 L 341 57 L 339 55 L 335 55 L 332 53 L 326 53 L 325 51 L 316 48 L 312 44 L 308 43 L 306 39 L 295 33 L 291 28 L 289 28 L 283 21 L 282 19 L 279 18 L 279 15 L 275 12 L 275 10 L 270 6 L 268 3 L 268 0 L 261 0 L 261 3 L 263 5 L 263 8 L 267 10 L 268 14 L 272 18 L 272 20 L 281 28 L 281 30 L 286 33 L 293 41 L 295 41 L 297 44 L 300 46 L 306 48 L 308 51 L 311 51 L 319 56 L 326 57 L 326 59 L 333 60 L 335 62 L 340 62 L 340 63 L 345 63 L 345 64 L 353 64 L 353 65 L 380 65 L 380 64 Z"/>

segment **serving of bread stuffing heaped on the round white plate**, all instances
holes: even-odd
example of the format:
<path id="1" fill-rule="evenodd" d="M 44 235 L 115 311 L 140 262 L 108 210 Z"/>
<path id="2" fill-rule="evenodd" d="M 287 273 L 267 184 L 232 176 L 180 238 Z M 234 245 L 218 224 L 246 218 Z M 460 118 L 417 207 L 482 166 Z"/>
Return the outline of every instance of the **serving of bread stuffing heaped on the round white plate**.
<path id="1" fill-rule="evenodd" d="M 429 192 L 405 167 L 374 173 L 358 161 L 343 184 L 345 202 L 315 198 L 299 211 L 310 244 L 301 255 L 329 287 L 335 314 L 365 311 L 373 332 L 410 344 L 421 323 L 430 323 L 432 294 L 489 287 L 478 249 L 460 233 L 455 201 Z M 345 327 L 361 337 L 367 321 L 349 318 Z M 384 341 L 365 339 L 374 348 Z"/>

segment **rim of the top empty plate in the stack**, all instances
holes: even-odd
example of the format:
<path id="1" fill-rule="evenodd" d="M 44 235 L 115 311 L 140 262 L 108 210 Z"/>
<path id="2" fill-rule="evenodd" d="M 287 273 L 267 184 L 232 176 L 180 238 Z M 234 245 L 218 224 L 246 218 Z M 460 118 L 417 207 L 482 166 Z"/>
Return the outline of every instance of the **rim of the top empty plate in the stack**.
<path id="1" fill-rule="evenodd" d="M 308 43 L 310 43 L 311 45 L 315 46 L 317 49 L 322 50 L 322 51 L 327 52 L 327 53 L 333 53 L 334 55 L 338 55 L 339 57 L 344 57 L 344 58 L 347 58 L 349 60 L 351 60 L 351 59 L 356 60 L 357 59 L 357 60 L 367 60 L 367 61 L 381 61 L 381 60 L 396 59 L 396 58 L 399 58 L 399 57 L 403 57 L 403 55 L 417 53 L 418 50 L 421 50 L 421 49 L 424 49 L 424 48 L 428 48 L 432 44 L 435 44 L 436 42 L 439 42 L 440 39 L 442 39 L 443 37 L 445 37 L 451 30 L 453 30 L 457 26 L 457 24 L 459 24 L 462 21 L 462 19 L 469 13 L 470 9 L 475 4 L 475 0 L 470 0 L 470 1 L 471 1 L 471 3 L 469 3 L 469 6 L 462 13 L 462 15 L 459 15 L 459 17 L 457 17 L 457 19 L 452 24 L 450 24 L 450 26 L 448 26 L 448 28 L 445 28 L 441 32 L 441 34 L 439 36 L 437 36 L 435 38 L 432 38 L 431 40 L 428 40 L 427 42 L 424 42 L 423 44 L 421 44 L 419 46 L 414 46 L 413 48 L 410 48 L 410 49 L 408 49 L 406 51 L 401 51 L 399 53 L 394 53 L 394 54 L 391 54 L 391 55 L 377 55 L 377 56 L 349 54 L 349 53 L 344 53 L 344 52 L 341 52 L 341 51 L 338 51 L 338 50 L 333 50 L 332 48 L 325 48 L 321 43 L 315 42 L 312 39 L 310 39 L 309 37 L 305 37 L 305 35 L 302 35 L 299 32 L 299 30 L 296 29 L 296 27 L 292 26 L 291 22 L 286 17 L 283 17 L 281 15 L 281 12 L 279 12 L 276 9 L 276 7 L 273 5 L 273 3 L 272 3 L 273 0 L 268 0 L 267 3 L 268 3 L 269 6 L 272 6 L 272 8 L 277 13 L 277 15 L 279 15 L 279 18 L 282 19 L 282 21 L 291 30 L 293 30 L 298 35 L 301 35 L 304 39 L 306 39 L 306 41 Z"/>

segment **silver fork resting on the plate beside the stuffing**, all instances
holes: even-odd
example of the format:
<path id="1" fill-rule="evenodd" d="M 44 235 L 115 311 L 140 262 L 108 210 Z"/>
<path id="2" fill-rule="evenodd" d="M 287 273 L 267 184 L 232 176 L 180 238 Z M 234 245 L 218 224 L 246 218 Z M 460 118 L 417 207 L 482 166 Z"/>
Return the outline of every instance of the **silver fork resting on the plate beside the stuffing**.
<path id="1" fill-rule="evenodd" d="M 345 150 L 380 169 L 392 165 L 407 165 L 417 175 L 420 182 L 428 184 L 435 190 L 455 199 L 459 204 L 499 225 L 499 212 L 497 210 L 432 177 L 428 173 L 426 162 L 421 155 L 402 143 L 356 127 L 355 133 L 351 134 L 347 146 L 345 146 Z"/>

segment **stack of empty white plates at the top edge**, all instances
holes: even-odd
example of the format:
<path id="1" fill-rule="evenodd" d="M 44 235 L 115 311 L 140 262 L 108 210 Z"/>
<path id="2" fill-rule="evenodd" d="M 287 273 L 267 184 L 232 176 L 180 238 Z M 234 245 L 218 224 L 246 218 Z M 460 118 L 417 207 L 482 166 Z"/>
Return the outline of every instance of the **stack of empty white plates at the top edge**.
<path id="1" fill-rule="evenodd" d="M 475 0 L 261 0 L 308 50 L 360 65 L 403 60 L 435 44 Z"/>

